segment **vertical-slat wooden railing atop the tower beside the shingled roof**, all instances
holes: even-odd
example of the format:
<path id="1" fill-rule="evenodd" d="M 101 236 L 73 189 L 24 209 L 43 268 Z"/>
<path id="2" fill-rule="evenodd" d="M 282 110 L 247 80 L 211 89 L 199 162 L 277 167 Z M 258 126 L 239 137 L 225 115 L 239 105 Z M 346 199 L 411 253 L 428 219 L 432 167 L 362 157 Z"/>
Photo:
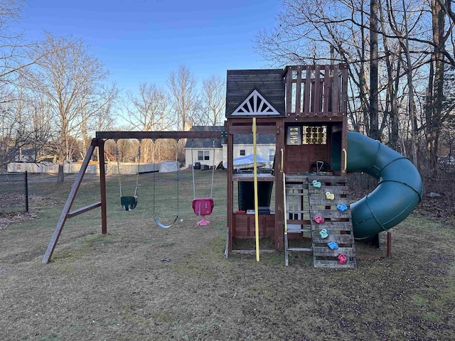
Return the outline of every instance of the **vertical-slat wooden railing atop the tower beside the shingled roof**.
<path id="1" fill-rule="evenodd" d="M 293 65 L 284 69 L 287 117 L 343 117 L 348 65 Z"/>

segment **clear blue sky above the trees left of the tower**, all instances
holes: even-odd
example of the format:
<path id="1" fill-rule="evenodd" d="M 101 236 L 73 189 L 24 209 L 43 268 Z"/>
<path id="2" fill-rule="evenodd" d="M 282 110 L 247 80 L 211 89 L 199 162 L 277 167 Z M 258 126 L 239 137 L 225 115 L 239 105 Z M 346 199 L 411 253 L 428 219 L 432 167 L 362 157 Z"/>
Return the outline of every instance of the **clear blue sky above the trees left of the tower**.
<path id="1" fill-rule="evenodd" d="M 279 0 L 28 0 L 18 27 L 29 39 L 82 38 L 120 89 L 160 86 L 184 64 L 198 82 L 228 69 L 267 67 L 253 50 Z"/>

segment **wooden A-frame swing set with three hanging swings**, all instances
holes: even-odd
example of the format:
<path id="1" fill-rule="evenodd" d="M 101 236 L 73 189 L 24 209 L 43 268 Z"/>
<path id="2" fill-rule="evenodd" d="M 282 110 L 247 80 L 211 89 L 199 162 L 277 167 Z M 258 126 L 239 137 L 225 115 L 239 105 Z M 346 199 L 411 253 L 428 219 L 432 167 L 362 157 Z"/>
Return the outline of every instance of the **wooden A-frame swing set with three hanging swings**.
<path id="1" fill-rule="evenodd" d="M 60 218 L 57 222 L 57 226 L 54 229 L 53 235 L 50 238 L 50 242 L 48 244 L 48 248 L 45 251 L 43 256 L 43 264 L 48 264 L 50 261 L 50 257 L 52 257 L 53 251 L 57 246 L 58 239 L 60 234 L 63 231 L 63 227 L 65 226 L 65 222 L 68 218 L 75 217 L 77 215 L 81 215 L 82 213 L 88 212 L 90 210 L 94 210 L 97 207 L 101 209 L 101 232 L 102 234 L 107 234 L 107 210 L 106 210 L 106 202 L 107 202 L 107 195 L 106 195 L 106 168 L 105 168 L 105 141 L 108 139 L 112 139 L 116 142 L 117 147 L 117 140 L 118 139 L 137 139 L 139 141 L 138 146 L 138 163 L 137 163 L 137 174 L 136 174 L 136 186 L 134 189 L 134 195 L 127 196 L 123 195 L 122 190 L 122 179 L 120 175 L 120 167 L 119 167 L 119 156 L 118 156 L 118 148 L 116 148 L 116 158 L 117 158 L 117 171 L 119 175 L 119 190 L 120 190 L 120 204 L 122 205 L 123 210 L 131 211 L 137 207 L 137 196 L 138 196 L 138 188 L 139 188 L 139 167 L 140 167 L 140 156 L 141 156 L 141 141 L 143 139 L 223 139 L 226 138 L 227 134 L 225 131 L 97 131 L 96 138 L 92 139 L 90 147 L 87 149 L 87 153 L 85 154 L 84 161 L 82 161 L 82 165 L 80 167 L 79 173 L 75 178 L 75 182 L 73 183 L 73 187 L 70 190 L 68 198 L 65 202 L 65 206 L 63 207 L 62 213 L 60 214 Z M 215 142 L 214 142 L 215 145 Z M 87 171 L 87 166 L 90 163 L 90 159 L 95 152 L 95 149 L 98 148 L 98 156 L 99 156 L 99 163 L 100 163 L 100 201 L 94 202 L 90 205 L 80 207 L 77 210 L 71 211 L 71 207 L 73 202 L 75 201 L 75 197 L 77 195 L 77 190 L 79 190 L 80 185 L 82 183 L 82 179 L 84 178 L 85 171 Z M 193 153 L 193 150 L 191 150 Z M 193 158 L 193 155 L 191 156 Z M 193 160 L 192 160 L 193 161 Z M 213 166 L 213 171 L 215 167 Z M 194 170 L 193 170 L 194 172 Z M 178 171 L 177 171 L 177 180 L 178 180 Z M 154 202 L 155 202 L 155 179 L 154 179 Z M 178 186 L 178 181 L 177 181 Z M 198 225 L 207 225 L 210 224 L 208 220 L 205 220 L 206 215 L 210 215 L 213 210 L 213 173 L 212 173 L 212 184 L 210 190 L 210 197 L 196 197 L 196 185 L 194 182 L 194 173 L 193 173 L 193 211 L 196 215 L 202 217 L 202 220 L 198 222 Z M 177 195 L 178 196 L 178 195 Z M 177 209 L 178 211 L 178 209 Z M 163 224 L 160 222 L 158 217 L 156 217 L 155 212 L 153 212 L 154 221 L 158 224 L 161 228 L 168 228 L 173 225 L 174 222 L 178 219 L 178 212 L 171 224 Z"/>

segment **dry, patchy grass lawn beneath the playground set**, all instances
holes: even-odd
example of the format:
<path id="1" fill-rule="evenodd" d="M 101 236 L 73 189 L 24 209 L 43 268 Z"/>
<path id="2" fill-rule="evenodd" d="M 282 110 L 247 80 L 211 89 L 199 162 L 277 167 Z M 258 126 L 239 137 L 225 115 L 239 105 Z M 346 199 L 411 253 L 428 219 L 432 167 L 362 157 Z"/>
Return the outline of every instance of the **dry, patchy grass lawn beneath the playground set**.
<path id="1" fill-rule="evenodd" d="M 196 172 L 197 196 L 210 195 L 210 175 Z M 157 177 L 155 213 L 170 222 L 175 175 Z M 358 269 L 314 269 L 302 254 L 289 267 L 279 253 L 225 259 L 225 173 L 215 174 L 212 224 L 197 227 L 191 171 L 181 172 L 170 229 L 152 220 L 151 174 L 132 212 L 109 177 L 108 234 L 99 210 L 74 217 L 43 265 L 74 176 L 30 178 L 31 214 L 0 230 L 1 340 L 454 340 L 453 226 L 409 217 L 392 229 L 392 259 Z M 133 192 L 134 176 L 122 180 Z M 97 200 L 87 176 L 73 208 Z"/>

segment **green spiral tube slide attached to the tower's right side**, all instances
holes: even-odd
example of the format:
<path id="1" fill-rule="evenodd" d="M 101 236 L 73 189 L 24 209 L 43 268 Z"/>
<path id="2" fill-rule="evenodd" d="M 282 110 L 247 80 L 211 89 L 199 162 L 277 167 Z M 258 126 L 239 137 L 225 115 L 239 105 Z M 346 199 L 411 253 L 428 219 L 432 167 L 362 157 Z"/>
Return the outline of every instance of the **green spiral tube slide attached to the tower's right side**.
<path id="1" fill-rule="evenodd" d="M 420 202 L 423 185 L 414 164 L 392 148 L 348 131 L 346 170 L 364 172 L 378 187 L 350 204 L 355 239 L 365 241 L 406 219 Z"/>

